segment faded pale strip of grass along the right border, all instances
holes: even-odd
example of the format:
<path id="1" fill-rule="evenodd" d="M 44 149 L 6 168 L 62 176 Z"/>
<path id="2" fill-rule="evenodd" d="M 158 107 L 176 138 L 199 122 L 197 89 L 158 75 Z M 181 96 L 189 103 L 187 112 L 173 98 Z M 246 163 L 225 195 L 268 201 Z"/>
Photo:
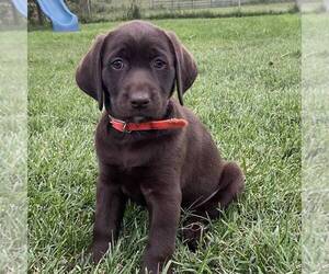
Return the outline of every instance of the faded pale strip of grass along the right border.
<path id="1" fill-rule="evenodd" d="M 303 271 L 329 272 L 329 16 L 303 15 Z"/>

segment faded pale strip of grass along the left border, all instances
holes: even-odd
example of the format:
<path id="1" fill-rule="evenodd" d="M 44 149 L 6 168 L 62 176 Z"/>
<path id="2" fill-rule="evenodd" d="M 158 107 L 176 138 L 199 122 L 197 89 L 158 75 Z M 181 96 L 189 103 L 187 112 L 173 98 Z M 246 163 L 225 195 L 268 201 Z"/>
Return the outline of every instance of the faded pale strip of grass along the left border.
<path id="1" fill-rule="evenodd" d="M 19 274 L 27 250 L 26 31 L 0 31 L 0 273 Z"/>

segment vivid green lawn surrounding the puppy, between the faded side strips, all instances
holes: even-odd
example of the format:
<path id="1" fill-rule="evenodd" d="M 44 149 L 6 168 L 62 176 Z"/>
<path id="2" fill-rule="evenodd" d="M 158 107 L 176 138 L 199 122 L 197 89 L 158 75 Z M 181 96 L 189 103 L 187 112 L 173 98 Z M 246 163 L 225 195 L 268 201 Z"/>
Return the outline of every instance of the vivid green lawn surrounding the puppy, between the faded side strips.
<path id="1" fill-rule="evenodd" d="M 196 253 L 178 241 L 178 273 L 300 272 L 300 22 L 297 15 L 161 20 L 193 53 L 200 75 L 185 104 L 207 125 L 247 189 Z M 99 33 L 29 34 L 29 242 L 31 273 L 135 273 L 147 239 L 145 210 L 129 205 L 117 244 L 86 260 L 94 210 L 95 102 L 75 69 Z"/>

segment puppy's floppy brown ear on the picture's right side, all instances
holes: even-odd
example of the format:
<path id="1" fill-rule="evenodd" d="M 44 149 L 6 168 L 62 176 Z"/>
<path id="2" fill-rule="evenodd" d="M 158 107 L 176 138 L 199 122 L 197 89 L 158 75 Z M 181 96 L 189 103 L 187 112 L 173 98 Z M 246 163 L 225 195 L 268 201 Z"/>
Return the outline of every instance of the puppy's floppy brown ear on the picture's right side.
<path id="1" fill-rule="evenodd" d="M 183 93 L 190 89 L 197 76 L 196 64 L 192 55 L 181 44 L 173 32 L 166 32 L 174 53 L 175 84 L 178 96 L 183 105 Z"/>

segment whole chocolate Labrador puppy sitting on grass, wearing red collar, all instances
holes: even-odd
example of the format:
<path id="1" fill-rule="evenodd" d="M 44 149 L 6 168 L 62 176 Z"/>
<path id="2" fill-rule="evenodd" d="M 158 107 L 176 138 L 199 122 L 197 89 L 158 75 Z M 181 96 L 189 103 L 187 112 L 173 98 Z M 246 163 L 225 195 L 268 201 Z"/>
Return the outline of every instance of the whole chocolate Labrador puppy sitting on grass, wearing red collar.
<path id="1" fill-rule="evenodd" d="M 198 221 L 217 217 L 242 191 L 240 168 L 220 159 L 209 133 L 182 106 L 196 75 L 177 36 L 143 21 L 98 36 L 81 60 L 79 88 L 105 107 L 95 134 L 95 262 L 116 239 L 127 199 L 149 212 L 141 272 L 156 274 L 174 252 L 181 207 L 200 216 L 184 224 L 193 249 Z"/>

